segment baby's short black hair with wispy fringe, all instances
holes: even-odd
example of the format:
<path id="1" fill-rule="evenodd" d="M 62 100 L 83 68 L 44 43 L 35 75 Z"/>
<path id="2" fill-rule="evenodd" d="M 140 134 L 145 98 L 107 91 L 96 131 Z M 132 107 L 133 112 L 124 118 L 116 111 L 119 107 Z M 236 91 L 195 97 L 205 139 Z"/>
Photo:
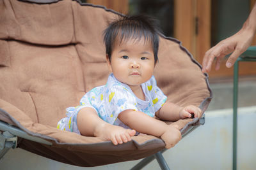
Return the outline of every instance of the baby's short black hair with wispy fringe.
<path id="1" fill-rule="evenodd" d="M 145 42 L 151 41 L 152 43 L 156 64 L 158 60 L 159 32 L 161 30 L 158 27 L 157 20 L 152 17 L 145 15 L 122 16 L 111 22 L 107 29 L 104 30 L 106 54 L 109 60 L 111 60 L 111 53 L 113 52 L 113 46 L 117 36 L 120 38 L 120 43 L 131 38 L 140 40 L 144 37 Z"/>

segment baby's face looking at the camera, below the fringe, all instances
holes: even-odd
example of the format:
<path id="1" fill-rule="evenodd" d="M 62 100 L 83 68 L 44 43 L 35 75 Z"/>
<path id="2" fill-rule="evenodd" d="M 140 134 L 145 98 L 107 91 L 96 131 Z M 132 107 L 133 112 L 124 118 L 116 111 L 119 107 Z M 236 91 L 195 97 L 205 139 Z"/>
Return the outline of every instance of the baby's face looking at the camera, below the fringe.
<path id="1" fill-rule="evenodd" d="M 145 42 L 144 38 L 129 39 L 121 44 L 117 41 L 108 66 L 115 78 L 131 89 L 145 83 L 152 77 L 155 67 L 151 42 Z"/>

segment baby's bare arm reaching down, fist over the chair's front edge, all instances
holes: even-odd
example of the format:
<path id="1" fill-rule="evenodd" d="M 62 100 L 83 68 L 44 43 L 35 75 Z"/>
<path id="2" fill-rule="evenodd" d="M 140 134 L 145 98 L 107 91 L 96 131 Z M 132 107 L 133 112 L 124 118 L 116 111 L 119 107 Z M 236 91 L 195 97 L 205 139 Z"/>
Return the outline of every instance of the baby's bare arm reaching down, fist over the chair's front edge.
<path id="1" fill-rule="evenodd" d="M 165 124 L 161 120 L 149 117 L 141 111 L 125 110 L 118 115 L 118 118 L 131 129 L 161 137 L 166 144 L 166 148 L 173 147 L 181 139 L 178 129 L 172 125 Z"/>

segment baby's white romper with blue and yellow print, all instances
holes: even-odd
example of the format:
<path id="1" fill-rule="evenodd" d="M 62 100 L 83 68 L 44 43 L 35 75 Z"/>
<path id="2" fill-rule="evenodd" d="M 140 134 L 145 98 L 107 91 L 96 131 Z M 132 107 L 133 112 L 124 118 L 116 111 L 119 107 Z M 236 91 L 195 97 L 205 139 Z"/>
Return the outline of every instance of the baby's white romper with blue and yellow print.
<path id="1" fill-rule="evenodd" d="M 134 95 L 130 87 L 116 80 L 113 74 L 108 77 L 106 85 L 95 87 L 87 92 L 77 107 L 67 108 L 67 117 L 58 122 L 58 129 L 80 134 L 77 128 L 77 113 L 85 107 L 93 108 L 102 120 L 112 125 L 125 128 L 117 117 L 124 110 L 142 111 L 150 117 L 154 117 L 156 111 L 165 103 L 167 97 L 157 87 L 154 76 L 141 84 L 145 94 L 145 101 Z"/>

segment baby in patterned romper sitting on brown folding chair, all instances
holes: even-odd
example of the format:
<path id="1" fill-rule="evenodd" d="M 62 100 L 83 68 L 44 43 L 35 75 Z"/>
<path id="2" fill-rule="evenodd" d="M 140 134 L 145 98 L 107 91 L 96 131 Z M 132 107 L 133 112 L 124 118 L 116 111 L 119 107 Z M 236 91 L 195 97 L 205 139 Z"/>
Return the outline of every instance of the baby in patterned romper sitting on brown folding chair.
<path id="1" fill-rule="evenodd" d="M 87 92 L 58 129 L 98 136 L 114 145 L 131 141 L 136 132 L 163 139 L 166 148 L 180 139 L 179 129 L 161 120 L 199 117 L 200 108 L 166 101 L 153 76 L 159 46 L 158 28 L 145 16 L 122 17 L 104 31 L 106 60 L 111 74 L 106 85 Z M 157 118 L 161 120 L 158 120 Z"/>

